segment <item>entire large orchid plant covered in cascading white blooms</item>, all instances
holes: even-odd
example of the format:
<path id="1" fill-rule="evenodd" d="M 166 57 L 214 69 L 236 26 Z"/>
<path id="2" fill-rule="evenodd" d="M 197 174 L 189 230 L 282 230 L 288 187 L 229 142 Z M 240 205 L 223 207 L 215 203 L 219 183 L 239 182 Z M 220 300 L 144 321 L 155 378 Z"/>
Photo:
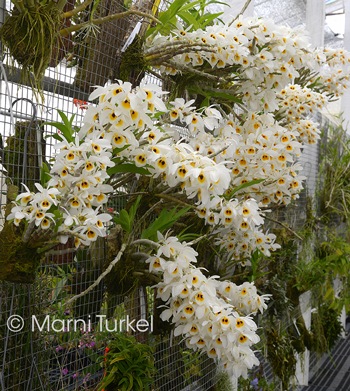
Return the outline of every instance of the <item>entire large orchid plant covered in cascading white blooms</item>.
<path id="1" fill-rule="evenodd" d="M 88 246 L 106 235 L 111 219 L 103 210 L 116 186 L 106 184 L 107 169 L 127 164 L 147 169 L 163 194 L 185 194 L 226 260 L 249 260 L 257 250 L 269 256 L 279 245 L 263 228 L 264 213 L 298 198 L 305 177 L 297 157 L 303 144 L 319 138 L 309 114 L 348 85 L 349 53 L 312 50 L 302 30 L 239 17 L 206 30 L 178 24 L 170 35 L 149 37 L 144 58 L 160 75 L 201 69 L 197 87 L 210 92 L 204 94 L 209 104 L 198 108 L 184 97 L 169 102 L 167 92 L 145 82 L 136 89 L 122 81 L 96 88 L 90 100 L 97 104 L 87 108 L 80 130 L 71 139 L 61 134 L 45 187 L 20 194 L 8 219 L 36 230 L 55 227 L 60 242 L 73 236 L 75 248 Z M 226 89 L 210 90 L 203 74 L 210 83 L 226 81 Z M 114 183 L 130 178 L 125 171 Z M 175 324 L 189 348 L 246 377 L 258 364 L 252 315 L 267 308 L 268 297 L 254 283 L 206 276 L 197 256 L 191 243 L 158 233 L 147 263 L 161 277 L 161 318 Z"/>

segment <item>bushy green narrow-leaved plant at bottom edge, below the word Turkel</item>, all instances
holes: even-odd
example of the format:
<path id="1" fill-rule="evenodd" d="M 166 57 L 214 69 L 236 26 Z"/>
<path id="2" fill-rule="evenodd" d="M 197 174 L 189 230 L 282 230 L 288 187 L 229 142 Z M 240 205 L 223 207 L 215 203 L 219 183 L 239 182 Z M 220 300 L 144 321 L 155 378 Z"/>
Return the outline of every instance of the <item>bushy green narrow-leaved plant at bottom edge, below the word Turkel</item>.
<path id="1" fill-rule="evenodd" d="M 134 337 L 117 334 L 108 345 L 106 374 L 98 391 L 150 390 L 155 373 L 150 346 Z"/>

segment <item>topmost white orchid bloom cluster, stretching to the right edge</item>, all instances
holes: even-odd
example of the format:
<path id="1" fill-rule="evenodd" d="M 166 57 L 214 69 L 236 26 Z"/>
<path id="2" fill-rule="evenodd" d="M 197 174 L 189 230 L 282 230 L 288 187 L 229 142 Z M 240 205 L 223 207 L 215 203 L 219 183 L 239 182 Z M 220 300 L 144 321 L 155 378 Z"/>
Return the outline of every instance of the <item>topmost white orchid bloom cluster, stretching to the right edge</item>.
<path id="1" fill-rule="evenodd" d="M 276 95 L 296 78 L 303 76 L 305 69 L 320 72 L 324 91 L 339 96 L 347 88 L 350 55 L 340 49 L 311 49 L 305 30 L 293 30 L 277 26 L 271 20 L 240 16 L 232 26 L 215 25 L 192 31 L 180 22 L 171 35 L 160 33 L 148 37 L 145 55 L 171 45 L 207 44 L 211 50 L 198 52 L 197 48 L 176 55 L 171 63 L 156 65 L 160 73 L 174 75 L 182 66 L 200 68 L 204 63 L 213 69 L 237 67 L 239 73 L 234 81 L 236 93 L 250 110 L 263 108 L 265 112 L 278 110 Z M 180 67 L 177 69 L 176 64 Z M 312 85 L 316 78 L 304 83 Z M 263 107 L 261 107 L 263 102 Z"/>

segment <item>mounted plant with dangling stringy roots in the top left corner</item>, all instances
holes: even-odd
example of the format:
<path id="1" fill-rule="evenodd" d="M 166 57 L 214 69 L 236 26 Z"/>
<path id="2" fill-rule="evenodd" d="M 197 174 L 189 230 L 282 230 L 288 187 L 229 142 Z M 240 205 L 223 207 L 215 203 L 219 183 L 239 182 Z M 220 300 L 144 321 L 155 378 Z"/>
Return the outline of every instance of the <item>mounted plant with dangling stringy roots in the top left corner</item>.
<path id="1" fill-rule="evenodd" d="M 83 30 L 85 34 L 89 35 L 97 30 L 96 26 L 128 15 L 139 15 L 159 22 L 153 15 L 141 12 L 134 7 L 125 12 L 93 19 L 94 11 L 99 3 L 99 1 L 95 1 L 90 11 L 89 20 L 72 26 L 69 18 L 84 11 L 93 3 L 93 0 L 86 0 L 67 12 L 63 12 L 67 0 L 60 0 L 57 3 L 53 0 L 43 2 L 12 0 L 12 3 L 15 7 L 0 29 L 1 38 L 12 58 L 21 66 L 23 81 L 28 80 L 32 88 L 37 89 L 42 98 L 42 81 L 45 70 L 63 58 L 62 50 L 65 51 L 65 48 L 69 47 L 62 37 L 69 36 L 73 31 L 78 30 Z M 68 8 L 70 7 L 66 7 L 66 9 Z M 14 32 L 16 33 L 14 34 Z M 52 58 L 53 54 L 56 55 L 56 60 Z"/>

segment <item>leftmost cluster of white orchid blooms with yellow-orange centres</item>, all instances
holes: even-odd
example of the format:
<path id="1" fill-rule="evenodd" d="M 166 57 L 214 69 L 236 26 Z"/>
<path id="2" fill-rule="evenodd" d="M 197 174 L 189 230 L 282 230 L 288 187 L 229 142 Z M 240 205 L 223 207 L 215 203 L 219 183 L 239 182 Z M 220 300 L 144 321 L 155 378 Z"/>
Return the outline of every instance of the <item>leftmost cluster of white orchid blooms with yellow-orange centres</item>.
<path id="1" fill-rule="evenodd" d="M 112 186 L 104 184 L 108 178 L 107 167 L 114 166 L 111 161 L 111 144 L 100 138 L 64 140 L 56 144 L 60 149 L 51 168 L 51 179 L 47 187 L 36 183 L 37 193 L 26 188 L 16 198 L 16 206 L 7 217 L 19 225 L 22 220 L 49 231 L 57 224 L 61 243 L 66 243 L 73 232 L 74 245 L 89 245 L 99 236 L 106 235 L 105 223 L 111 219 L 100 213 Z"/>

